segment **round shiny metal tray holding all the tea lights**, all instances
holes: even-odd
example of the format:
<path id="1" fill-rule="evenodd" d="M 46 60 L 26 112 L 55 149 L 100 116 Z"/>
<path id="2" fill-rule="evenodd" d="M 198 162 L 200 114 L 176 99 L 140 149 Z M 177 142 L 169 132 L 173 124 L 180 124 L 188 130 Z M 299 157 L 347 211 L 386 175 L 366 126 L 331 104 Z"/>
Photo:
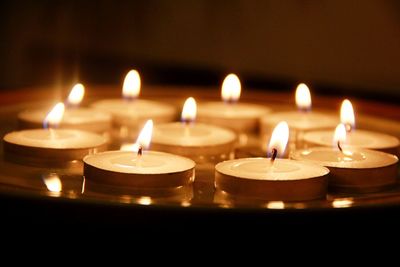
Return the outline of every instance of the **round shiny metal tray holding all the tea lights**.
<path id="1" fill-rule="evenodd" d="M 87 86 L 86 104 L 95 99 L 119 97 L 120 89 L 112 86 Z M 26 108 L 54 103 L 66 95 L 64 91 L 46 88 L 30 88 L 1 93 L 0 125 L 2 136 L 17 125 L 17 113 Z M 56 97 L 52 97 L 56 96 Z M 218 99 L 218 88 L 147 87 L 143 97 L 160 99 L 180 106 L 184 98 L 195 96 L 199 101 Z M 244 91 L 242 101 L 264 103 L 275 110 L 290 109 L 287 103 L 293 97 L 286 93 Z M 47 99 L 43 101 L 43 99 Z M 54 101 L 52 101 L 54 100 Z M 329 112 L 338 112 L 340 105 L 336 97 L 314 97 L 314 108 L 323 107 Z M 400 137 L 400 108 L 378 102 L 353 100 L 358 127 L 375 129 Z M 85 104 L 85 103 L 84 103 Z M 371 115 L 373 114 L 373 116 Z M 253 148 L 241 153 L 257 154 Z M 2 148 L 0 149 L 2 154 Z M 61 192 L 51 192 L 45 181 L 57 176 L 62 183 Z M 252 218 L 256 215 L 265 222 L 289 223 L 289 216 L 297 220 L 310 221 L 316 215 L 352 214 L 365 210 L 382 210 L 400 207 L 400 185 L 387 191 L 373 194 L 340 194 L 330 192 L 326 199 L 307 202 L 266 202 L 243 199 L 214 190 L 214 165 L 203 164 L 196 170 L 196 182 L 192 187 L 169 191 L 134 191 L 112 188 L 85 182 L 82 164 L 70 168 L 41 168 L 0 160 L 0 208 L 3 222 L 29 220 L 32 223 L 63 221 L 70 223 L 96 222 L 101 224 L 160 224 L 177 223 L 219 218 Z M 346 211 L 344 212 L 345 214 Z M 112 214 L 112 216 L 108 216 Z M 207 217 L 208 216 L 208 217 Z M 233 217 L 232 217 L 233 216 Z M 273 219 L 273 220 L 271 220 Z M 161 221 L 160 221 L 161 220 Z M 230 220 L 230 219 L 228 219 Z M 197 221 L 198 222 L 198 221 Z M 208 221 L 211 223 L 210 221 Z M 212 222 L 213 224 L 215 221 Z"/>

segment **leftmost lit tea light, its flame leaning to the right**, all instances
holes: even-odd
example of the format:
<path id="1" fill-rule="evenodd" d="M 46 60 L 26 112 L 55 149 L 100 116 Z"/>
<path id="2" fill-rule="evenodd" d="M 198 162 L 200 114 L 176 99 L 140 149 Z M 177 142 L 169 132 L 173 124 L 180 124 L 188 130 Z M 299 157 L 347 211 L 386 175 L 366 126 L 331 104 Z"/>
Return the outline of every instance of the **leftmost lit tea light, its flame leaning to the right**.
<path id="1" fill-rule="evenodd" d="M 98 134 L 72 129 L 54 129 L 61 121 L 64 104 L 58 103 L 44 120 L 45 129 L 8 133 L 3 138 L 6 158 L 26 164 L 64 165 L 106 148 Z"/>

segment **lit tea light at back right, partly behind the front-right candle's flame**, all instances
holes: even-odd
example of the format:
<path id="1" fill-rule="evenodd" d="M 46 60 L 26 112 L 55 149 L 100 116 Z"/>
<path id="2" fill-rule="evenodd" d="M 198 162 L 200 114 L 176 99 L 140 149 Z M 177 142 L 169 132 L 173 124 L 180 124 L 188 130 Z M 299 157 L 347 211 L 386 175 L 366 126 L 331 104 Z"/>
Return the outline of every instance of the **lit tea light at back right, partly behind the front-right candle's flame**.
<path id="1" fill-rule="evenodd" d="M 296 105 L 298 111 L 278 112 L 261 119 L 261 136 L 267 139 L 273 127 L 282 120 L 289 124 L 290 151 L 302 146 L 303 134 L 318 129 L 333 129 L 338 123 L 335 116 L 321 112 L 311 112 L 311 94 L 307 85 L 301 83 L 296 89 Z"/>

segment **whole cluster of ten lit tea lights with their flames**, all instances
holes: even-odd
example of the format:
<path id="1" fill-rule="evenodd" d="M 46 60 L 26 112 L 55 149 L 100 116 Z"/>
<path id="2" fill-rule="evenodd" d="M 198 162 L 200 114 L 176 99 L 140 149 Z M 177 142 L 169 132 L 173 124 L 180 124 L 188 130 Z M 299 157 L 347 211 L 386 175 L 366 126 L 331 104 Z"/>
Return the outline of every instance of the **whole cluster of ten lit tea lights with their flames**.
<path id="1" fill-rule="evenodd" d="M 266 200 L 323 198 L 328 184 L 370 192 L 396 183 L 399 140 L 355 130 L 348 100 L 343 101 L 338 124 L 339 116 L 311 112 L 310 91 L 300 84 L 296 90 L 299 111 L 272 113 L 263 105 L 239 103 L 240 80 L 230 74 L 222 85 L 223 101 L 197 107 L 190 97 L 183 106 L 182 122 L 171 122 L 175 108 L 139 99 L 140 87 L 139 73 L 132 70 L 123 84 L 124 98 L 79 107 L 84 87 L 77 84 L 66 105 L 58 103 L 50 112 L 21 112 L 20 127 L 36 129 L 7 134 L 5 155 L 27 163 L 83 159 L 87 180 L 130 188 L 185 186 L 195 179 L 196 163 L 212 161 L 217 189 Z M 136 143 L 102 152 L 113 139 L 104 134 L 111 127 L 132 134 L 143 124 Z M 270 137 L 265 141 L 269 157 L 233 159 L 235 147 L 245 147 L 246 134 L 258 128 L 262 139 Z M 290 152 L 285 153 L 288 142 Z"/>

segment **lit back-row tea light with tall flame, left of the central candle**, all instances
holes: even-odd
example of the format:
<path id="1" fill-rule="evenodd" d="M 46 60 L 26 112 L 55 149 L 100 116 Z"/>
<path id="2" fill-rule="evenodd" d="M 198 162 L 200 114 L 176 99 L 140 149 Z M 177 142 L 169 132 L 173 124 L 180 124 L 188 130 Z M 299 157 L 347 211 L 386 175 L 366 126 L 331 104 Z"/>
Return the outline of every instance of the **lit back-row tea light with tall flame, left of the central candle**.
<path id="1" fill-rule="evenodd" d="M 137 99 L 140 93 L 140 76 L 136 70 L 131 70 L 125 77 L 122 95 L 124 99 L 105 99 L 92 104 L 92 107 L 107 111 L 113 117 L 117 127 L 140 129 L 148 119 L 155 123 L 173 121 L 176 115 L 175 107 Z"/>

